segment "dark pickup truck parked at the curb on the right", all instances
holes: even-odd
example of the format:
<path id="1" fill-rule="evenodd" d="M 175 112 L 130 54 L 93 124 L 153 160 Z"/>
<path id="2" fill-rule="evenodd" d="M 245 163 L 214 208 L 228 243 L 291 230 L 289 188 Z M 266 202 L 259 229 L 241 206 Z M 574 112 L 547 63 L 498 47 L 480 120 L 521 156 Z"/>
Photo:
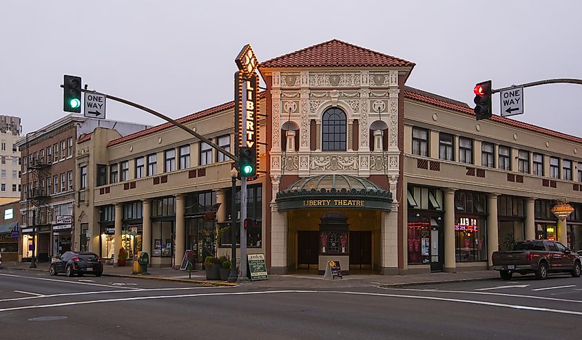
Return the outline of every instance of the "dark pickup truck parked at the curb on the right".
<path id="1" fill-rule="evenodd" d="M 511 279 L 513 273 L 535 273 L 542 280 L 548 273 L 571 273 L 573 277 L 580 277 L 582 271 L 579 255 L 551 240 L 518 242 L 513 251 L 494 251 L 492 262 L 501 279 Z"/>

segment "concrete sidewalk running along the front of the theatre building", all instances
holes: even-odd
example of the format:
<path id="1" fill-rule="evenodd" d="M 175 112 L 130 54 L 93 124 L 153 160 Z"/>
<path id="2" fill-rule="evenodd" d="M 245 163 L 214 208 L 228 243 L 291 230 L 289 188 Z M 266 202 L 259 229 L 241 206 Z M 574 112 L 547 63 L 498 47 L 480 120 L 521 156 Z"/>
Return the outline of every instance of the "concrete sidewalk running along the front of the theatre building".
<path id="1" fill-rule="evenodd" d="M 0 272 L 6 269 L 40 270 L 48 272 L 50 264 L 37 264 L 37 268 L 29 268 L 28 262 L 3 262 Z M 150 275 L 132 275 L 132 266 L 104 266 L 103 276 L 130 277 L 134 279 L 156 279 L 164 281 L 207 284 L 211 286 L 233 286 L 225 281 L 209 281 L 204 270 L 195 270 L 188 278 L 185 270 L 172 268 L 147 268 Z M 48 275 L 48 274 L 47 274 Z M 289 274 L 269 275 L 265 281 L 240 281 L 238 284 L 256 288 L 342 288 L 360 286 L 408 286 L 413 284 L 438 284 L 444 282 L 462 282 L 499 279 L 497 270 L 479 270 L 459 273 L 428 273 L 414 275 L 347 275 L 343 279 L 323 279 L 320 275 Z"/>

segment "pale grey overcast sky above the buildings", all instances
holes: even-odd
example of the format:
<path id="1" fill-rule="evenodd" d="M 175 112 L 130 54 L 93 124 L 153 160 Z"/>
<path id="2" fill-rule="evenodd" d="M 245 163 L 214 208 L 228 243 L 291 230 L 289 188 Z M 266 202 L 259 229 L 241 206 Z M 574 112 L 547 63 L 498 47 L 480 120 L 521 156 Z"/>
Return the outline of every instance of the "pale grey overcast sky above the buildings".
<path id="1" fill-rule="evenodd" d="M 179 118 L 233 100 L 245 44 L 267 61 L 331 39 L 413 61 L 406 85 L 472 107 L 480 81 L 582 78 L 581 12 L 574 0 L 4 0 L 0 114 L 21 117 L 23 134 L 65 116 L 60 85 L 71 74 Z M 512 118 L 582 136 L 581 98 L 581 85 L 528 87 Z M 107 118 L 163 123 L 112 100 Z"/>

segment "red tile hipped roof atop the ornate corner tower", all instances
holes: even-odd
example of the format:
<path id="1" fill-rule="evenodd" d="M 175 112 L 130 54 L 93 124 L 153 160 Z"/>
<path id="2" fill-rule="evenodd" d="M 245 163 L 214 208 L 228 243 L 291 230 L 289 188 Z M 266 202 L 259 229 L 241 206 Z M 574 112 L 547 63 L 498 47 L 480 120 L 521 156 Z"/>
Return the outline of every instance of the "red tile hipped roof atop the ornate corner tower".
<path id="1" fill-rule="evenodd" d="M 415 64 L 337 39 L 260 63 L 259 67 L 413 67 Z"/>

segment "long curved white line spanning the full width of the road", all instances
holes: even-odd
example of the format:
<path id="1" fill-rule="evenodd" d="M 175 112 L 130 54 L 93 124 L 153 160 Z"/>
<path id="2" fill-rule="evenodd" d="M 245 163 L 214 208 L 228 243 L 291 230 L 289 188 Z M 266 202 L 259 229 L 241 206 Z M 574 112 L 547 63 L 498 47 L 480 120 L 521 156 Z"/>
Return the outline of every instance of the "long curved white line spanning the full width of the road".
<path id="1" fill-rule="evenodd" d="M 340 292 L 333 290 L 265 290 L 260 292 L 233 292 L 233 293 L 207 293 L 207 294 L 186 294 L 186 295 L 157 295 L 149 297 L 126 297 L 119 299 L 102 299 L 102 300 L 90 300 L 90 301 L 76 301 L 76 302 L 63 302 L 61 304 L 48 304 L 48 305 L 37 305 L 37 306 L 22 306 L 22 307 L 12 307 L 12 308 L 1 308 L 0 312 L 8 312 L 10 310 L 25 310 L 25 309 L 37 309 L 37 308 L 50 308 L 50 307 L 62 307 L 62 306 L 76 306 L 84 304 L 99 304 L 104 302 L 119 302 L 119 301 L 139 301 L 139 300 L 150 300 L 150 299 L 176 299 L 180 297 L 213 297 L 213 296 L 227 296 L 227 295 L 262 295 L 262 294 L 281 294 L 281 293 L 318 293 L 318 294 L 346 294 L 346 295 L 364 295 L 371 297 L 396 297 L 401 299 L 421 299 L 421 300 L 436 300 L 436 301 L 448 301 L 448 302 L 458 302 L 461 304 L 477 304 L 482 306 L 493 306 L 502 308 L 512 308 L 519 310 L 535 310 L 539 312 L 554 312 L 560 314 L 568 315 L 582 315 L 582 312 L 576 310 L 560 310 L 553 308 L 539 308 L 531 306 L 521 306 L 513 304 L 499 304 L 496 302 L 487 301 L 472 301 L 472 300 L 461 300 L 461 299 L 449 299 L 444 297 L 423 297 L 415 295 L 397 295 L 397 294 L 380 294 L 380 293 L 363 293 L 363 292 Z"/>

